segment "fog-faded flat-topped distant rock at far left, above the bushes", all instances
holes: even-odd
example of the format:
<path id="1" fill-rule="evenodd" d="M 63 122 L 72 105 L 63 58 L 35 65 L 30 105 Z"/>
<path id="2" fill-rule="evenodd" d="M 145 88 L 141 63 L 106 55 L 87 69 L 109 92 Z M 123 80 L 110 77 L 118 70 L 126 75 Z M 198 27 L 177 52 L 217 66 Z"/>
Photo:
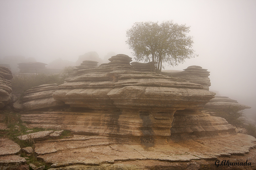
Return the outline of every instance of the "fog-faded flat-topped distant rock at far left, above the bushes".
<path id="1" fill-rule="evenodd" d="M 18 68 L 20 73 L 43 73 L 45 72 L 45 63 L 41 62 L 28 62 L 28 63 L 19 63 Z"/>

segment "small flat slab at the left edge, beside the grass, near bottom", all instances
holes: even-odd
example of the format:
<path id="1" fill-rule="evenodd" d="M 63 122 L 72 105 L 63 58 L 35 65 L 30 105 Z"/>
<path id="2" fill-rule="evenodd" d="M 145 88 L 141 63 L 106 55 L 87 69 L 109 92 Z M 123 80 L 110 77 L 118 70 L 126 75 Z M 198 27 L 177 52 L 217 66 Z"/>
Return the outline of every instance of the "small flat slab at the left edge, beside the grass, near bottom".
<path id="1" fill-rule="evenodd" d="M 0 137 L 0 156 L 12 155 L 20 151 L 20 146 L 12 140 Z"/>

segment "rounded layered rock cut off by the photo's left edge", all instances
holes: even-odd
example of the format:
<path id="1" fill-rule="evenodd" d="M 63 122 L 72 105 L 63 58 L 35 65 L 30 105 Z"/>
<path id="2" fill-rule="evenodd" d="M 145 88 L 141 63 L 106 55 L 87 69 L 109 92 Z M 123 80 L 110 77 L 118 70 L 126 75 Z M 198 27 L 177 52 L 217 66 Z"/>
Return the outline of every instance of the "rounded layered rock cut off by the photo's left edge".
<path id="1" fill-rule="evenodd" d="M 10 103 L 12 97 L 12 72 L 7 67 L 0 66 L 0 109 Z"/>

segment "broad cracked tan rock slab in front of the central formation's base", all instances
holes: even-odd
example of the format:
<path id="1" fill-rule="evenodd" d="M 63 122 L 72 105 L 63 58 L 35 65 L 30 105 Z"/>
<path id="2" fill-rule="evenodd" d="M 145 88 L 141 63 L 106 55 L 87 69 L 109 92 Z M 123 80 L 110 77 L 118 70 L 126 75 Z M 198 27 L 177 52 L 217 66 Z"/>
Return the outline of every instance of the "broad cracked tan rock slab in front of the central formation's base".
<path id="1" fill-rule="evenodd" d="M 77 137 L 76 137 L 77 139 Z M 36 143 L 38 158 L 51 163 L 52 167 L 113 164 L 118 161 L 160 160 L 186 162 L 200 159 L 216 159 L 218 156 L 244 154 L 256 146 L 256 139 L 249 135 L 237 134 L 227 137 L 186 140 L 154 147 L 131 143 L 118 144 L 107 137 L 88 137 L 87 140 L 48 140 Z"/>

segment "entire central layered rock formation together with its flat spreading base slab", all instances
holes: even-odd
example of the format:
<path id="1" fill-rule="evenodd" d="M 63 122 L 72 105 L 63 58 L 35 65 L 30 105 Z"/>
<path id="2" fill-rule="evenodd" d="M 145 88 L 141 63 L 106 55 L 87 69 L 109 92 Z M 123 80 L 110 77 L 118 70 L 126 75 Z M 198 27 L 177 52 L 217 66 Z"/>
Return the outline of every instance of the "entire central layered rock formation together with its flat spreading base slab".
<path id="1" fill-rule="evenodd" d="M 64 84 L 42 85 L 25 93 L 24 108 L 29 111 L 21 112 L 23 125 L 60 131 L 18 138 L 33 138 L 37 159 L 52 164 L 51 169 L 195 169 L 195 161 L 244 154 L 256 146 L 254 137 L 237 134 L 225 119 L 202 111 L 215 95 L 206 88 L 210 85 L 206 69 L 192 66 L 171 77 L 136 71 L 127 55 L 109 61 L 99 67 L 84 61 Z M 189 74 L 195 75 L 189 79 Z M 48 98 L 70 108 L 33 110 L 40 106 L 37 100 Z M 54 138 L 63 129 L 73 135 Z M 143 161 L 147 166 L 139 165 Z M 216 167 L 212 162 L 209 169 Z"/>

